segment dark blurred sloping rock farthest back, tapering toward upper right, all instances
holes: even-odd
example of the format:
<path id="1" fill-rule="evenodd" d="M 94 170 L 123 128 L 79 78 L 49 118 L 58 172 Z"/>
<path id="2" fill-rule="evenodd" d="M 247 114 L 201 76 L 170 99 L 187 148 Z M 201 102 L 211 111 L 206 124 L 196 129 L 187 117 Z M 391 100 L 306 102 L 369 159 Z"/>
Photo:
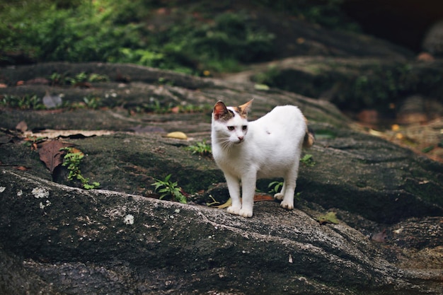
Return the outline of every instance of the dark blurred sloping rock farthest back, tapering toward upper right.
<path id="1" fill-rule="evenodd" d="M 239 4 L 238 10 L 244 9 Z M 251 10 L 251 7 L 247 7 Z M 303 21 L 303 17 L 288 17 L 284 12 L 270 13 L 255 6 L 253 18 L 260 27 L 275 35 L 274 59 L 296 56 L 328 57 L 389 57 L 404 59 L 413 54 L 409 50 L 369 35 L 331 30 L 326 26 Z"/>

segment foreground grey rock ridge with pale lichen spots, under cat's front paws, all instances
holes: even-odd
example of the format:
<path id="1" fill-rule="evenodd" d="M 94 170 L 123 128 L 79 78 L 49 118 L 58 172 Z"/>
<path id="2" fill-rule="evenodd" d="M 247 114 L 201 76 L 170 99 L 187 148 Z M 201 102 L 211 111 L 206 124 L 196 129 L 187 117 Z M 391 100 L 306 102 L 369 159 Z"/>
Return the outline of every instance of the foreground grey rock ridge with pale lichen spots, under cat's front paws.
<path id="1" fill-rule="evenodd" d="M 442 274 L 400 270 L 349 226 L 322 226 L 274 202 L 256 204 L 255 219 L 243 219 L 219 209 L 0 173 L 4 248 L 26 258 L 14 275 L 30 273 L 61 293 L 398 294 L 426 291 L 425 278 Z M 49 206 L 39 206 L 35 188 L 48 192 L 43 198 Z M 127 216 L 133 223 L 125 223 Z M 2 286 L 6 292 L 15 287 Z"/>

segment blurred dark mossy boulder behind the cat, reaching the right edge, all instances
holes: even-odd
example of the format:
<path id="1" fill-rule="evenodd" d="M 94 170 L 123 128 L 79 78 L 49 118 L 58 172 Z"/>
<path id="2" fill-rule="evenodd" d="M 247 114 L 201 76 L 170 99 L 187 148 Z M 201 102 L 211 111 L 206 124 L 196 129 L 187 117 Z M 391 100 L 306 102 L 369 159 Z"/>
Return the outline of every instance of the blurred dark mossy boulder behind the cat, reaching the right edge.
<path id="1" fill-rule="evenodd" d="M 251 66 L 227 81 L 265 84 L 328 100 L 340 110 L 374 109 L 395 117 L 394 107 L 412 95 L 442 98 L 442 60 L 421 62 L 382 57 L 290 57 Z M 440 114 L 440 115 L 443 115 Z"/>

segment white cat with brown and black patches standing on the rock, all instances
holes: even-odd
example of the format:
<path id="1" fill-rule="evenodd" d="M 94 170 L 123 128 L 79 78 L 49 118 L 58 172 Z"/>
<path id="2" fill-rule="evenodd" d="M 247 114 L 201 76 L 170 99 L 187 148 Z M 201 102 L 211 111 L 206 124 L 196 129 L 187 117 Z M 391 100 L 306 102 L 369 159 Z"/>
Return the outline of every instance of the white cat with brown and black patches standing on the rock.
<path id="1" fill-rule="evenodd" d="M 274 195 L 281 206 L 294 209 L 294 190 L 302 146 L 313 144 L 306 119 L 294 105 L 277 106 L 258 120 L 248 122 L 252 100 L 239 107 L 219 101 L 212 112 L 212 154 L 222 169 L 232 205 L 231 214 L 253 215 L 258 178 L 284 178 Z M 240 183 L 242 199 L 240 198 Z"/>

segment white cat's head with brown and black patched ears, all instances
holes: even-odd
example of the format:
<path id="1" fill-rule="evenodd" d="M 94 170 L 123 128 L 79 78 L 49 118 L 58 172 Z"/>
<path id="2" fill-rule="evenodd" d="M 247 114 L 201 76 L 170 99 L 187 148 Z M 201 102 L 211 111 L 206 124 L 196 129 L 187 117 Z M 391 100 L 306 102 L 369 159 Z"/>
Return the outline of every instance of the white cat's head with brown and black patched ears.
<path id="1" fill-rule="evenodd" d="M 248 110 L 252 100 L 238 107 L 226 107 L 222 101 L 214 105 L 212 128 L 227 145 L 240 144 L 248 133 Z"/>

